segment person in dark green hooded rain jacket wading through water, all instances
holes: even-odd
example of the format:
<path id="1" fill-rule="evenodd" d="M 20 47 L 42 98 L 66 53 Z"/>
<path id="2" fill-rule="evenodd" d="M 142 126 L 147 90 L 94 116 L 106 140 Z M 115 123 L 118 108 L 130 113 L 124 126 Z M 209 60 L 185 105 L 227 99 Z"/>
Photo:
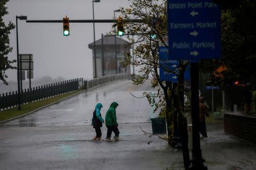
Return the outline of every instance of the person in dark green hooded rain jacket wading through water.
<path id="1" fill-rule="evenodd" d="M 119 130 L 118 130 L 118 124 L 117 124 L 117 115 L 115 113 L 115 108 L 117 108 L 118 103 L 113 102 L 109 109 L 108 112 L 106 112 L 106 127 L 108 128 L 107 136 L 106 136 L 106 141 L 110 141 L 112 131 L 114 132 L 115 136 L 114 139 L 117 141 L 119 138 Z"/>

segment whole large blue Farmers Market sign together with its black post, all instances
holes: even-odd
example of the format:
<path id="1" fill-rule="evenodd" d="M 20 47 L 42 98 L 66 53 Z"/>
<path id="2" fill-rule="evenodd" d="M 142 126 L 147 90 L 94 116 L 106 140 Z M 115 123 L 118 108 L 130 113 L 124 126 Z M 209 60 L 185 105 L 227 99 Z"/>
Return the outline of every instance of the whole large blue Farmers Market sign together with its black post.
<path id="1" fill-rule="evenodd" d="M 221 58 L 220 6 L 212 0 L 167 0 L 167 12 L 169 59 L 191 60 L 193 150 L 189 169 L 207 169 L 200 149 L 198 61 Z"/>

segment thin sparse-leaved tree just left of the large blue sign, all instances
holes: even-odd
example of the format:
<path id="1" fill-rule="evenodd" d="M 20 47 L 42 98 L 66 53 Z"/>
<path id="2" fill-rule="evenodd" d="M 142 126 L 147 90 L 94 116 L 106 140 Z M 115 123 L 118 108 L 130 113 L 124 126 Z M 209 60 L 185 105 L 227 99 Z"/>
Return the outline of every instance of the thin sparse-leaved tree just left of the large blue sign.
<path id="1" fill-rule="evenodd" d="M 135 44 L 133 55 L 126 54 L 126 63 L 139 68 L 140 75 L 133 79 L 134 84 L 142 84 L 148 78 L 148 75 L 152 75 L 151 86 L 157 89 L 156 93 L 144 92 L 143 94 L 147 97 L 148 102 L 155 106 L 155 111 L 160 109 L 160 112 L 165 113 L 168 144 L 171 145 L 171 139 L 177 131 L 177 128 L 175 128 L 177 114 L 181 118 L 184 113 L 184 72 L 188 61 L 179 61 L 176 87 L 172 87 L 170 81 L 160 80 L 159 67 L 164 68 L 164 66 L 159 62 L 159 41 L 162 41 L 168 47 L 163 40 L 164 36 L 168 36 L 167 1 L 130 1 L 129 8 L 120 9 L 128 39 Z M 132 23 L 129 22 L 130 19 L 139 19 L 141 22 Z M 136 40 L 133 39 L 133 35 L 137 35 Z M 166 68 L 164 70 L 176 74 L 174 70 Z M 175 103 L 173 103 L 173 97 L 175 97 Z"/>

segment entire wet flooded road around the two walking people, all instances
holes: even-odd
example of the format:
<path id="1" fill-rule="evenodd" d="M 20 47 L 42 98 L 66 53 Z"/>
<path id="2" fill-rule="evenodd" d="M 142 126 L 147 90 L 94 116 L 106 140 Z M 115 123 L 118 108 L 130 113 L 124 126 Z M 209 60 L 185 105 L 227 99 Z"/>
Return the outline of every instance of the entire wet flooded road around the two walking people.
<path id="1" fill-rule="evenodd" d="M 184 169 L 180 150 L 141 130 L 152 131 L 153 108 L 129 92 L 142 96 L 144 90 L 152 90 L 149 83 L 115 82 L 0 125 L 0 169 Z M 104 106 L 105 117 L 112 101 L 119 103 L 120 140 L 91 141 L 96 103 Z M 226 135 L 222 123 L 207 128 L 209 138 L 201 140 L 201 149 L 208 169 L 256 169 L 253 143 Z"/>

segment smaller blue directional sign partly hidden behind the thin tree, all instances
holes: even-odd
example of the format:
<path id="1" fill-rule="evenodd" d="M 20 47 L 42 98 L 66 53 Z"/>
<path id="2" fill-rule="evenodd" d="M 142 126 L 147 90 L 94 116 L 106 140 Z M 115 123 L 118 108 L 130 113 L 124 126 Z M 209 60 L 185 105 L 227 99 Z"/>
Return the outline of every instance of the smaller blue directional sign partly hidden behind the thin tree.
<path id="1" fill-rule="evenodd" d="M 159 46 L 159 64 L 160 80 L 177 83 L 177 75 L 179 75 L 179 61 L 168 58 L 168 48 L 166 46 Z M 189 67 L 187 67 L 184 73 L 184 80 L 190 79 L 188 68 Z M 170 73 L 170 71 L 174 71 L 175 73 Z"/>

